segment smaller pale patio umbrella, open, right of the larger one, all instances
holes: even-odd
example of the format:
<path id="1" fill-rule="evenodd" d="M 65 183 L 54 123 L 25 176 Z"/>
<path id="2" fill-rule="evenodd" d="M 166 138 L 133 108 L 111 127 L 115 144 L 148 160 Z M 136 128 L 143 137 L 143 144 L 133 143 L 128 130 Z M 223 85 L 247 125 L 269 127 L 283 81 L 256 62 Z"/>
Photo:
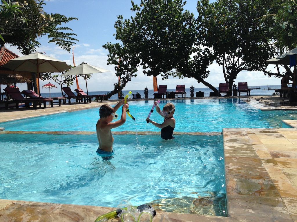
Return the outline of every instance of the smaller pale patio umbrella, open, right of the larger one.
<path id="1" fill-rule="evenodd" d="M 104 73 L 109 72 L 109 70 L 99 68 L 94 65 L 89 65 L 86 62 L 82 62 L 78 66 L 74 67 L 72 70 L 69 70 L 66 73 L 63 73 L 61 76 L 67 76 L 67 75 L 87 75 L 92 73 Z M 86 79 L 86 78 L 85 78 Z M 87 79 L 86 79 L 86 88 L 87 88 L 87 94 L 88 93 L 88 85 L 87 85 Z"/>

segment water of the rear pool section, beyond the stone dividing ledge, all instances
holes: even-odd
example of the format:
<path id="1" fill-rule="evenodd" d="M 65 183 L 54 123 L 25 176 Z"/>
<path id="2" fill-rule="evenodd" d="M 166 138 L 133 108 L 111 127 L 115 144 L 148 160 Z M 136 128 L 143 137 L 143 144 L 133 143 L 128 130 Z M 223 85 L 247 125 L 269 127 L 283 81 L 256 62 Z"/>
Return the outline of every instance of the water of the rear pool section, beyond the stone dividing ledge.
<path id="1" fill-rule="evenodd" d="M 222 132 L 222 128 L 271 128 L 286 127 L 281 120 L 297 119 L 296 111 L 260 111 L 241 99 L 173 99 L 160 101 L 162 108 L 167 102 L 176 106 L 175 132 Z M 146 118 L 153 101 L 131 101 L 129 110 L 135 121 L 127 116 L 126 123 L 113 131 L 160 131 Z M 121 109 L 117 112 L 119 117 Z M 151 120 L 162 123 L 163 118 L 154 111 Z M 96 131 L 99 107 L 66 112 L 6 123 L 6 130 L 22 131 Z"/>

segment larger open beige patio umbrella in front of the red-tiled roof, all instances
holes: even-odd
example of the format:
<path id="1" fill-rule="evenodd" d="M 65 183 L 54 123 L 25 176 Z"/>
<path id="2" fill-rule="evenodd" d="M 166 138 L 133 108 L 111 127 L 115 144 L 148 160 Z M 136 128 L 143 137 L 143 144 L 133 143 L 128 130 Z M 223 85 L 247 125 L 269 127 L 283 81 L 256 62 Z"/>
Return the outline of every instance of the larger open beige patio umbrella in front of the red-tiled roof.
<path id="1" fill-rule="evenodd" d="M 15 71 L 27 71 L 38 73 L 37 89 L 39 95 L 39 73 L 60 73 L 64 70 L 71 68 L 69 65 L 66 64 L 66 62 L 44 55 L 39 52 L 11 59 L 2 66 Z"/>

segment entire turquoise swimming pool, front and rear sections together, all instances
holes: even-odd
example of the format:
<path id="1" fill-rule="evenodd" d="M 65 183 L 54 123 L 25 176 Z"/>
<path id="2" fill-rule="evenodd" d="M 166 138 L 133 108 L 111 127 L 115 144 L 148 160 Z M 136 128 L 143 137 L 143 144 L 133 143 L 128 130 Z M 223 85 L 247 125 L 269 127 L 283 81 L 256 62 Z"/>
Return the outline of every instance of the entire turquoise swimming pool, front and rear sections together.
<path id="1" fill-rule="evenodd" d="M 280 127 L 294 111 L 255 109 L 240 99 L 172 99 L 175 132 Z M 124 125 L 114 131 L 155 131 L 146 123 L 153 101 L 131 101 Z M 121 110 L 118 110 L 118 114 Z M 6 130 L 95 131 L 99 108 L 0 123 Z M 162 117 L 153 112 L 151 119 Z M 207 133 L 206 133 L 207 134 Z M 222 136 L 114 135 L 115 156 L 96 155 L 91 135 L 0 134 L 0 198 L 115 207 L 128 199 L 168 212 L 226 216 Z M 25 143 L 24 143 L 25 141 Z M 2 155 L 3 153 L 3 155 Z M 32 184 L 32 181 L 34 183 Z"/>

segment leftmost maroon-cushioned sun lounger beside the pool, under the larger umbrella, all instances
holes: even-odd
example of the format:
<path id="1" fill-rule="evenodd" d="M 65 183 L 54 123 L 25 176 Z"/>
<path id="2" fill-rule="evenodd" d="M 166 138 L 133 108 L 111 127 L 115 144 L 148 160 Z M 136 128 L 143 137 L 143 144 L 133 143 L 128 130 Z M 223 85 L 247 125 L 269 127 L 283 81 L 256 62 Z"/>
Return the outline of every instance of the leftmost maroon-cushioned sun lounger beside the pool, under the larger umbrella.
<path id="1" fill-rule="evenodd" d="M 5 109 L 8 109 L 8 104 L 15 104 L 15 108 L 19 108 L 19 104 L 23 104 L 25 103 L 25 107 L 29 108 L 30 107 L 30 103 L 33 104 L 34 109 L 36 109 L 37 104 L 39 104 L 39 107 L 42 106 L 43 103 L 43 107 L 46 108 L 46 102 L 53 102 L 53 99 L 48 99 L 48 100 L 42 100 L 42 99 L 26 99 L 21 93 L 20 93 L 20 89 L 18 88 L 10 88 L 10 87 L 6 87 L 4 89 L 5 92 L 7 92 L 7 94 L 10 96 L 10 98 L 12 98 L 11 100 L 8 99 L 7 96 L 7 100 L 5 102 Z"/>

